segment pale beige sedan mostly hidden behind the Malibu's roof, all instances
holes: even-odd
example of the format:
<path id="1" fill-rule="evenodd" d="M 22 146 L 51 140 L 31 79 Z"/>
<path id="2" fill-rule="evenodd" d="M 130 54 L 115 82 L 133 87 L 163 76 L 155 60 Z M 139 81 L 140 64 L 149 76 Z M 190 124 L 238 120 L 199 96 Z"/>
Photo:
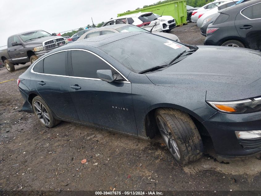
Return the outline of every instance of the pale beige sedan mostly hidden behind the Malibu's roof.
<path id="1" fill-rule="evenodd" d="M 144 28 L 137 27 L 132 24 L 114 24 L 110 26 L 104 26 L 100 28 L 95 28 L 91 31 L 84 33 L 77 41 L 88 39 L 90 37 L 96 37 L 101 35 L 107 35 L 111 33 L 120 33 L 120 32 L 145 32 L 150 33 L 149 31 L 145 30 Z M 163 33 L 163 32 L 154 32 L 152 34 L 159 35 L 162 37 L 166 37 L 168 39 L 172 39 L 174 41 L 180 42 L 179 38 L 172 34 L 172 33 Z"/>

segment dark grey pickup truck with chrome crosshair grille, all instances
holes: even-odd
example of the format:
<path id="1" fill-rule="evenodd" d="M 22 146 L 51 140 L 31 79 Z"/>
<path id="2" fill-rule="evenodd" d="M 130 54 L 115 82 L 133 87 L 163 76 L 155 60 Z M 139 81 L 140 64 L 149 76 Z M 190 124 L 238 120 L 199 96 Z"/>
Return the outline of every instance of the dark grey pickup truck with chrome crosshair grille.
<path id="1" fill-rule="evenodd" d="M 66 40 L 56 33 L 34 30 L 8 37 L 7 49 L 0 50 L 2 61 L 9 72 L 15 71 L 15 65 L 33 63 L 41 55 L 63 46 Z"/>

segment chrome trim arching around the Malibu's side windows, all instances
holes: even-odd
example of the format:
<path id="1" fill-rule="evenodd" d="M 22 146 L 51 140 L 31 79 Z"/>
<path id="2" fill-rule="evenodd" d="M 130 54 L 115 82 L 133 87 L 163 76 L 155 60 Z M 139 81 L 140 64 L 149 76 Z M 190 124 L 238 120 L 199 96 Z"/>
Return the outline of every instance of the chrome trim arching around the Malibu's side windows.
<path id="1" fill-rule="evenodd" d="M 101 60 L 103 60 L 105 63 L 107 63 L 107 64 L 108 64 L 112 69 L 114 69 L 117 73 L 119 73 L 120 76 L 122 76 L 124 80 L 126 80 L 126 81 L 120 81 L 121 83 L 131 83 L 130 81 L 128 81 L 128 79 L 127 79 L 122 73 L 120 73 L 115 67 L 113 67 L 113 66 L 112 66 L 110 63 L 108 63 L 106 60 L 104 60 L 103 58 L 101 58 L 99 55 L 97 55 L 97 54 L 95 54 L 95 53 L 93 53 L 93 52 L 91 52 L 91 51 L 89 51 L 89 50 L 85 50 L 85 49 L 66 49 L 66 50 L 60 50 L 60 51 L 54 52 L 54 53 L 52 53 L 52 54 L 46 55 L 44 58 L 40 59 L 39 61 L 41 61 L 41 60 L 45 59 L 46 57 L 51 56 L 51 55 L 53 55 L 53 54 L 57 54 L 57 53 L 59 53 L 59 52 L 65 52 L 65 51 L 69 51 L 69 50 L 81 50 L 81 51 L 85 51 L 85 52 L 89 52 L 89 53 L 91 53 L 91 54 L 94 54 L 94 55 L 97 56 L 99 59 L 101 59 Z M 31 70 L 30 70 L 31 73 L 41 74 L 41 75 L 47 75 L 47 76 L 60 76 L 60 77 L 68 77 L 68 78 L 79 78 L 79 79 L 103 81 L 103 80 L 101 80 L 101 79 L 99 79 L 99 78 L 86 78 L 86 77 L 77 77 L 77 76 L 64 76 L 64 75 L 55 75 L 55 74 L 47 74 L 47 73 L 34 72 L 34 70 L 33 70 L 33 69 L 34 69 L 34 66 L 35 66 L 39 61 L 36 61 L 36 62 L 34 63 L 34 65 L 32 66 L 32 68 L 31 68 Z"/>

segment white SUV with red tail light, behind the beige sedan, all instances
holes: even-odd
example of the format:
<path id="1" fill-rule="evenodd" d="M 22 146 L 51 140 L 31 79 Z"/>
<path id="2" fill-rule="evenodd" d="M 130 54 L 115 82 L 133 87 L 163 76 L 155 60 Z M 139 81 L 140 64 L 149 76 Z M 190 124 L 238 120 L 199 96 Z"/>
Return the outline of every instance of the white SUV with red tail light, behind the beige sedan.
<path id="1" fill-rule="evenodd" d="M 105 22 L 103 27 L 112 24 L 133 24 L 137 27 L 144 28 L 147 31 L 151 31 L 152 29 L 152 33 L 162 32 L 160 21 L 152 12 L 139 12 L 136 14 L 120 16 Z"/>

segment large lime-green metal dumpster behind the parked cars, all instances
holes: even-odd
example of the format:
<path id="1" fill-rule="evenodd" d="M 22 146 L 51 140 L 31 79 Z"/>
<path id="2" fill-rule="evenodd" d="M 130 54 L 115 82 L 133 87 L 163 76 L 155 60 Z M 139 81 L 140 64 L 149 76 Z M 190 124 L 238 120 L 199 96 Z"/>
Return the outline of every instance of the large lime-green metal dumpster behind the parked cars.
<path id="1" fill-rule="evenodd" d="M 172 1 L 156 6 L 145 7 L 139 10 L 133 10 L 118 14 L 118 17 L 135 14 L 139 12 L 153 12 L 158 15 L 172 16 L 176 20 L 176 25 L 187 24 L 186 0 Z M 163 14 L 162 14 L 163 13 Z"/>

